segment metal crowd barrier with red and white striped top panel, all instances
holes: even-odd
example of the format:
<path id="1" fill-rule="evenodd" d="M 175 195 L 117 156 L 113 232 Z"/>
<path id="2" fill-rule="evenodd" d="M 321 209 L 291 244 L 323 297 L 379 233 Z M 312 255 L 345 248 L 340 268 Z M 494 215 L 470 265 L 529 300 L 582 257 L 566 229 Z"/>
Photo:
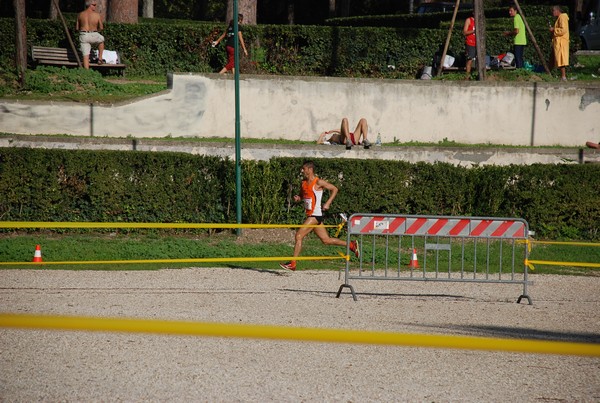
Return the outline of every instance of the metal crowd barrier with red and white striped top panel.
<path id="1" fill-rule="evenodd" d="M 358 237 L 361 255 L 346 261 L 337 297 L 349 288 L 357 300 L 350 280 L 504 283 L 522 284 L 517 303 L 532 305 L 528 236 L 520 218 L 354 214 L 348 243 Z"/>

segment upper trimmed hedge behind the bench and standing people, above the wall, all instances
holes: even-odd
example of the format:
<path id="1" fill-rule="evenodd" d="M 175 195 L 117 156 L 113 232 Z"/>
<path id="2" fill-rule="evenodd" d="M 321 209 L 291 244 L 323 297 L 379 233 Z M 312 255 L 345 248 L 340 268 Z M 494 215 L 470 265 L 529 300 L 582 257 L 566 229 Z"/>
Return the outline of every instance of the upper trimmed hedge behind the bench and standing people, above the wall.
<path id="1" fill-rule="evenodd" d="M 500 21 L 506 25 L 497 25 Z M 69 24 L 74 26 L 73 21 Z M 450 54 L 454 55 L 464 51 L 459 25 L 450 43 Z M 510 19 L 498 19 L 490 27 L 488 54 L 509 51 L 512 42 L 502 32 L 511 28 Z M 212 48 L 210 43 L 224 28 L 214 23 L 166 24 L 148 20 L 135 25 L 107 24 L 106 48 L 120 51 L 130 75 L 215 72 L 225 64 L 225 52 L 222 46 Z M 547 27 L 532 29 L 542 52 L 549 57 L 551 44 Z M 0 19 L 0 68 L 14 70 L 14 32 L 14 19 Z M 68 46 L 58 21 L 28 19 L 27 33 L 30 47 Z M 74 30 L 71 34 L 77 39 Z M 241 59 L 241 70 L 259 74 L 415 77 L 422 66 L 431 65 L 446 35 L 445 28 L 247 26 L 244 38 L 251 57 Z M 573 35 L 573 50 L 577 41 Z M 525 59 L 540 64 L 533 46 L 526 47 Z M 395 69 L 388 69 L 388 65 L 394 65 Z"/>

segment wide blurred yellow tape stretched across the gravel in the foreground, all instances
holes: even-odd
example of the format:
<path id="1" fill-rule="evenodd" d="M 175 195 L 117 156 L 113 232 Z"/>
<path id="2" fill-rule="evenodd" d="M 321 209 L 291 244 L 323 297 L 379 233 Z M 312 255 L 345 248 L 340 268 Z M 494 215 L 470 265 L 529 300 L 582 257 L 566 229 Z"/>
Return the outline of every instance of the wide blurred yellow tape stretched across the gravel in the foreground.
<path id="1" fill-rule="evenodd" d="M 403 334 L 348 329 L 293 328 L 237 323 L 0 314 L 0 327 L 241 337 L 600 357 L 600 345 L 591 343 Z"/>

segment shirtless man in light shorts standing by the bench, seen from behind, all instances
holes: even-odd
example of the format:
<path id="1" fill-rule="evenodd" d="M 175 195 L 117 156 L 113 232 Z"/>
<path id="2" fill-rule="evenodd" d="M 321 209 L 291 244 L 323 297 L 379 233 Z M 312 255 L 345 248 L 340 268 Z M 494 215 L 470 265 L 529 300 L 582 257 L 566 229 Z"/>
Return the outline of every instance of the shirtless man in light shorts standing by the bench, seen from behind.
<path id="1" fill-rule="evenodd" d="M 98 64 L 102 64 L 104 37 L 99 32 L 104 29 L 104 25 L 102 25 L 102 17 L 96 12 L 96 0 L 85 0 L 85 7 L 85 11 L 77 16 L 75 29 L 79 31 L 83 67 L 89 69 L 92 45 L 98 45 Z"/>

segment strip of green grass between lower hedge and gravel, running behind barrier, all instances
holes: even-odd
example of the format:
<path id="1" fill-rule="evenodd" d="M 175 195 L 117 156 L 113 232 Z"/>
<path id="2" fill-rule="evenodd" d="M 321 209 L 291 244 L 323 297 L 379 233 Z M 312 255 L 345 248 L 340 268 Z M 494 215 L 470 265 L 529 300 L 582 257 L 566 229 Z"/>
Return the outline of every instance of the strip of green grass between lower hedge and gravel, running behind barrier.
<path id="1" fill-rule="evenodd" d="M 291 230 L 290 230 L 291 231 Z M 342 237 L 343 238 L 343 237 Z M 361 240 L 363 247 L 362 264 L 365 268 L 371 268 L 371 262 L 375 261 L 376 269 L 387 266 L 391 270 L 398 267 L 397 237 L 390 237 L 389 250 L 386 258 L 384 237 L 378 237 L 376 246 L 372 246 L 372 238 L 364 237 Z M 401 246 L 400 267 L 405 269 L 409 265 L 412 245 L 409 240 L 403 240 Z M 432 240 L 428 240 L 429 243 Z M 73 262 L 73 261 L 101 261 L 101 260 L 150 260 L 150 259 L 196 259 L 196 258 L 222 258 L 223 262 L 209 263 L 144 263 L 144 264 L 69 264 L 69 265 L 43 265 L 44 270 L 67 269 L 67 270 L 158 270 L 163 268 L 180 267 L 248 267 L 256 269 L 278 269 L 277 261 L 259 262 L 228 262 L 231 257 L 289 257 L 292 255 L 291 242 L 281 240 L 253 240 L 251 237 L 238 238 L 229 231 L 213 233 L 212 235 L 161 235 L 154 232 L 144 235 L 119 234 L 79 234 L 59 235 L 56 233 L 37 233 L 3 235 L 0 237 L 0 256 L 2 262 L 31 262 L 35 245 L 41 245 L 44 262 Z M 510 271 L 512 249 L 507 242 L 503 243 L 502 250 L 499 244 L 492 243 L 488 246 L 486 242 L 465 244 L 464 258 L 461 255 L 460 242 L 452 242 L 451 270 L 457 273 L 461 270 L 464 260 L 466 273 L 478 274 L 489 272 L 498 273 L 500 269 L 499 256 L 502 254 L 502 272 Z M 427 272 L 433 272 L 436 259 L 438 260 L 440 272 L 447 272 L 448 254 L 440 251 L 429 251 L 427 257 L 423 255 L 423 239 L 415 238 L 415 247 L 421 267 L 427 264 Z M 516 247 L 517 273 L 520 259 L 524 256 L 524 245 Z M 490 251 L 489 262 L 487 251 Z M 344 248 L 331 247 L 321 244 L 314 236 L 304 242 L 303 256 L 336 256 L 338 252 L 345 252 Z M 532 260 L 543 260 L 550 262 L 582 262 L 600 263 L 600 247 L 582 245 L 543 245 L 534 244 L 530 254 Z M 299 261 L 299 270 L 339 270 L 344 268 L 345 262 L 340 259 Z M 0 269 L 34 268 L 36 266 L 0 265 Z M 352 267 L 358 267 L 358 261 L 352 259 Z M 476 268 L 476 269 L 475 269 Z M 535 273 L 545 274 L 576 274 L 597 276 L 600 269 L 593 267 L 574 267 L 562 265 L 536 265 Z"/>

